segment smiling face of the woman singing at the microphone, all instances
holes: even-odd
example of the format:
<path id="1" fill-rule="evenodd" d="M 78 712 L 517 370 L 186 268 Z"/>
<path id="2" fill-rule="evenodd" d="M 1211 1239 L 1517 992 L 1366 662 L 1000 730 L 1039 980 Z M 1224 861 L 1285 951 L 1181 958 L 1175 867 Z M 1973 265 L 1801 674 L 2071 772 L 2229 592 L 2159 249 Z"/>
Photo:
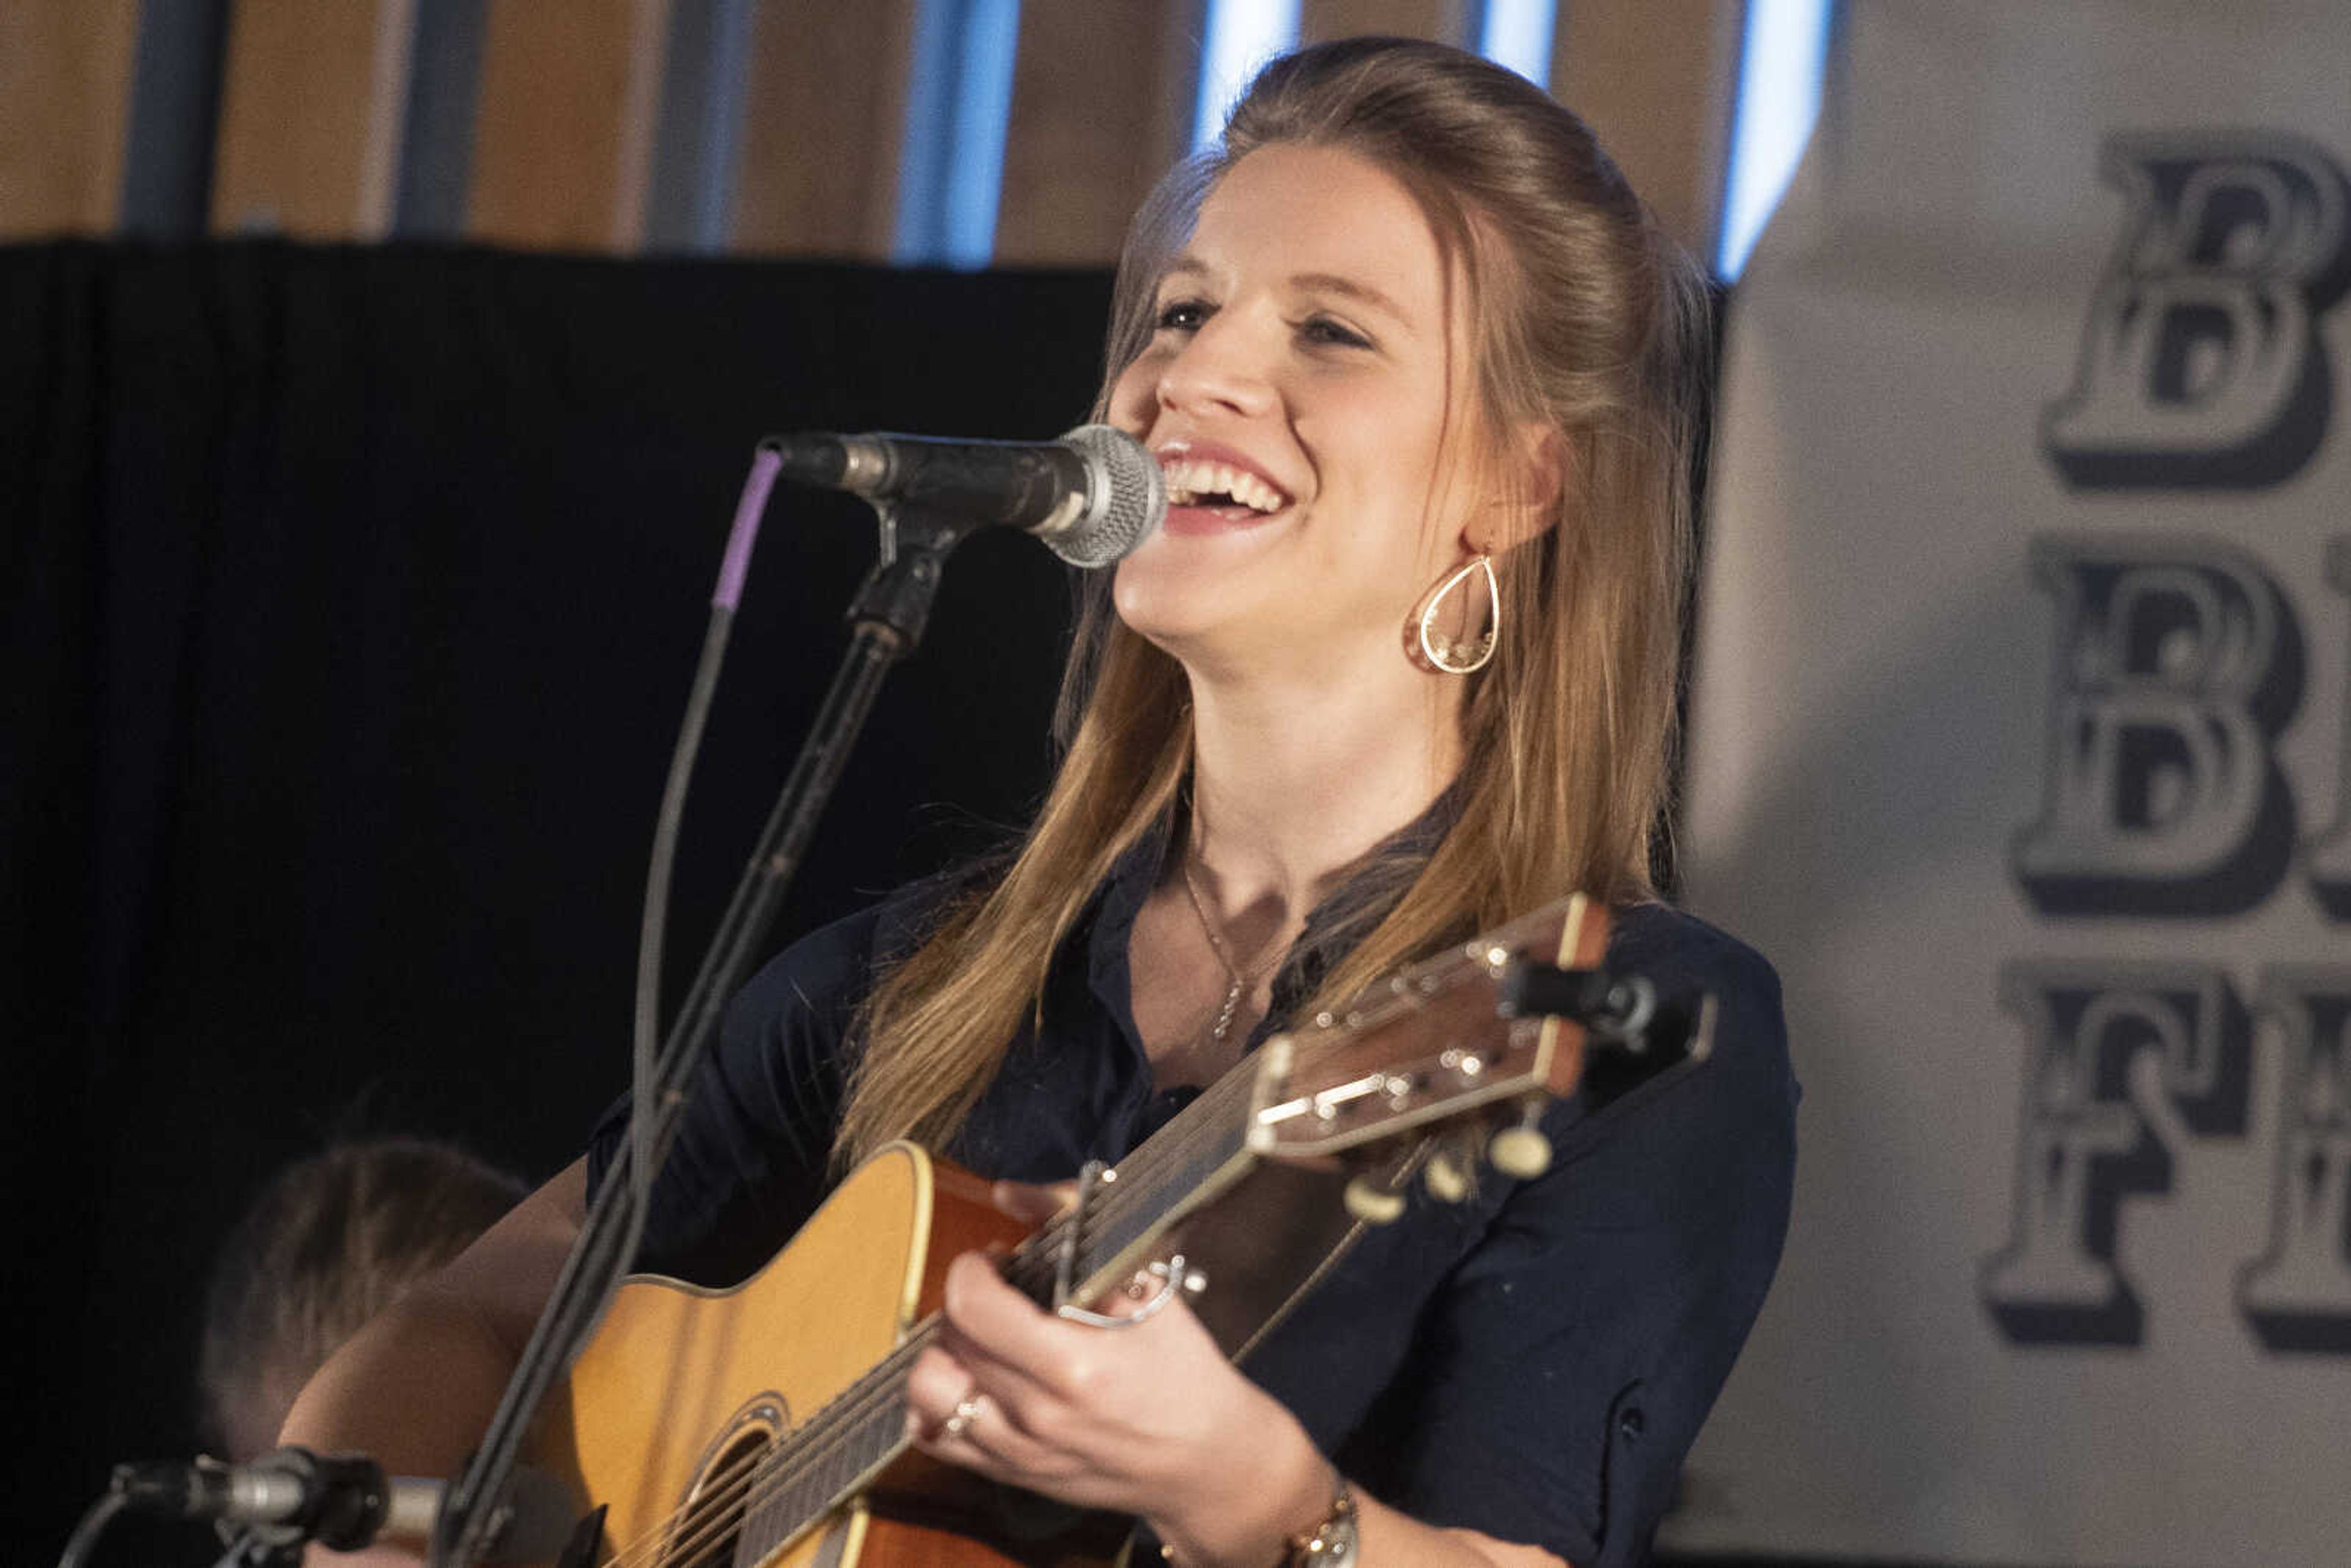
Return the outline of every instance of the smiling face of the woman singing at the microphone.
<path id="1" fill-rule="evenodd" d="M 1112 388 L 1171 503 L 1119 564 L 1119 616 L 1194 668 L 1404 665 L 1406 616 L 1462 559 L 1472 508 L 1460 296 L 1378 165 L 1241 158 Z"/>

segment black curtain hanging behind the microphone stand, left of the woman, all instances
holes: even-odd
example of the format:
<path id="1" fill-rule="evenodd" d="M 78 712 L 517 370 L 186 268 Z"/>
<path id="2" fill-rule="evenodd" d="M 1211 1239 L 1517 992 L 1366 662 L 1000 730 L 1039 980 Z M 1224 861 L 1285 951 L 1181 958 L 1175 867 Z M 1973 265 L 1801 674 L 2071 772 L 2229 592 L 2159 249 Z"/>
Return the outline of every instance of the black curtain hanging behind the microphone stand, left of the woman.
<path id="1" fill-rule="evenodd" d="M 200 1281 L 270 1171 L 423 1131 L 536 1180 L 623 1086 L 654 806 L 752 442 L 1079 423 L 1107 294 L 0 249 L 7 1389 L 35 1455 L 0 1495 L 28 1561 L 108 1462 L 195 1450 Z M 870 555 L 860 505 L 778 494 L 689 806 L 672 999 Z M 1027 813 L 1067 609 L 1039 545 L 964 545 L 778 943 Z"/>

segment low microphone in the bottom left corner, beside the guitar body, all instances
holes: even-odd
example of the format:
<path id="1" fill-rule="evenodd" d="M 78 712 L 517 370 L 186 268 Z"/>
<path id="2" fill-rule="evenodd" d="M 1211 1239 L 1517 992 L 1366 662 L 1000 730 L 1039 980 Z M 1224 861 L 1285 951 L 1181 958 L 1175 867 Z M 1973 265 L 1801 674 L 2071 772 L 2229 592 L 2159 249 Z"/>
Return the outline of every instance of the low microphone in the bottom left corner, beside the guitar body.
<path id="1" fill-rule="evenodd" d="M 386 1476 L 364 1453 L 320 1455 L 287 1446 L 249 1465 L 115 1465 L 113 1490 L 146 1514 L 247 1526 L 275 1544 L 315 1540 L 357 1552 L 374 1542 L 430 1547 L 449 1488 Z M 562 1483 L 534 1469 L 515 1472 L 501 1512 L 489 1544 L 496 1563 L 552 1561 L 578 1523 Z"/>

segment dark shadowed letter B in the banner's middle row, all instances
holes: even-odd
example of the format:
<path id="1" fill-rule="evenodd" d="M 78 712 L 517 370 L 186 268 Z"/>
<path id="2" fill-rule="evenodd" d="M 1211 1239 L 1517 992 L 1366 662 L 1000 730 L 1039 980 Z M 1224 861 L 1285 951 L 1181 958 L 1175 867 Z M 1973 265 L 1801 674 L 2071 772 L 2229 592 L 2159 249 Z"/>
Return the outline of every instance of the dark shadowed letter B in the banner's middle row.
<path id="1" fill-rule="evenodd" d="M 2215 541 L 2036 538 L 2057 599 L 2041 818 L 2015 875 L 2050 914 L 2236 914 L 2295 853 L 2273 741 L 2302 632 Z"/>

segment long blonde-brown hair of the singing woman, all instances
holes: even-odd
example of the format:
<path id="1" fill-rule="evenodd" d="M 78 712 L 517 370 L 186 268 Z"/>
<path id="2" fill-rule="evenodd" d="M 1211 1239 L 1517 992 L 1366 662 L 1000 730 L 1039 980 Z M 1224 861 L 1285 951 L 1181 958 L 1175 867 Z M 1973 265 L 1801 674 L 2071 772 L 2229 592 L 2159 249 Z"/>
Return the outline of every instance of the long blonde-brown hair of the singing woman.
<path id="1" fill-rule="evenodd" d="M 1674 752 L 1690 555 L 1704 280 L 1582 120 L 1460 49 L 1349 38 L 1258 73 L 1223 141 L 1136 216 L 1112 301 L 1103 402 L 1152 331 L 1154 296 L 1215 179 L 1272 143 L 1345 148 L 1396 176 L 1469 284 L 1481 428 L 1549 425 L 1552 527 L 1500 567 L 1502 635 L 1469 677 L 1458 816 L 1305 1011 L 1568 891 L 1653 896 Z M 1192 757 L 1183 668 L 1086 583 L 1056 736 L 1060 771 L 992 882 L 950 900 L 868 999 L 842 1161 L 891 1138 L 945 1145 L 1023 1027 L 1053 954 L 1119 856 L 1176 806 Z"/>

